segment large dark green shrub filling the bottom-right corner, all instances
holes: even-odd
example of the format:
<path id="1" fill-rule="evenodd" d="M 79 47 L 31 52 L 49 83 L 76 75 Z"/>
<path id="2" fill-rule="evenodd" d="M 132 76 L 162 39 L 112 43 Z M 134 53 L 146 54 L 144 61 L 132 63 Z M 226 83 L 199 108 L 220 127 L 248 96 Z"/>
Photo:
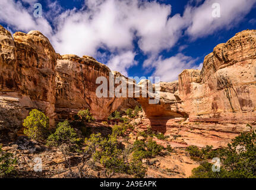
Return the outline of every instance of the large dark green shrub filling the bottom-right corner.
<path id="1" fill-rule="evenodd" d="M 256 178 L 256 134 L 242 133 L 226 148 L 211 151 L 221 162 L 220 172 L 211 172 L 211 163 L 201 164 L 191 178 Z"/>

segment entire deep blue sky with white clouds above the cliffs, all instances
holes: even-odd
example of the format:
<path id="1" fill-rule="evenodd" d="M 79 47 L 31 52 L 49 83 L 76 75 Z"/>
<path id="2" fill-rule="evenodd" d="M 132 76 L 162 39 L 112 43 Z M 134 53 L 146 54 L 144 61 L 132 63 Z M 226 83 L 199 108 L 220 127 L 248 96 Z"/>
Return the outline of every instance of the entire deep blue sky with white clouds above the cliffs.
<path id="1" fill-rule="evenodd" d="M 42 18 L 33 16 L 37 2 Z M 1 0 L 0 24 L 11 33 L 39 30 L 56 52 L 94 56 L 127 77 L 173 81 L 184 69 L 200 69 L 219 43 L 256 29 L 255 5 L 256 0 Z"/>

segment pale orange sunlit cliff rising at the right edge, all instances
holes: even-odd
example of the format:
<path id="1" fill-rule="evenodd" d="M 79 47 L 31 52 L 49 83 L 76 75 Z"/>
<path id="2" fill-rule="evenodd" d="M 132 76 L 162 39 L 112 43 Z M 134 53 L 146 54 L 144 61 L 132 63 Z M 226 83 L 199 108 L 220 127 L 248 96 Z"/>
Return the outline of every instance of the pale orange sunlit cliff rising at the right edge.
<path id="1" fill-rule="evenodd" d="M 256 30 L 236 34 L 206 56 L 202 71 L 179 75 L 179 94 L 190 121 L 256 120 Z"/>

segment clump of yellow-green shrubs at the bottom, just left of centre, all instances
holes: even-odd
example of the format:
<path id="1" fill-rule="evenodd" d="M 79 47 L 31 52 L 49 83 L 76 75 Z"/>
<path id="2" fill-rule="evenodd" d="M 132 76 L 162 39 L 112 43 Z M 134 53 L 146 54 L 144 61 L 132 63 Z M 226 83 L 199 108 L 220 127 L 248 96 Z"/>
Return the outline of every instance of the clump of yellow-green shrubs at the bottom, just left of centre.
<path id="1" fill-rule="evenodd" d="M 144 178 L 146 168 L 143 167 L 141 160 L 131 160 L 129 154 L 133 151 L 133 146 L 124 150 L 119 148 L 116 135 L 109 135 L 107 138 L 101 134 L 91 134 L 90 138 L 85 139 L 86 153 L 91 154 L 94 162 L 101 163 L 106 168 L 106 173 L 128 173 L 135 178 Z M 144 143 L 144 142 L 143 142 Z M 140 142 L 138 147 L 140 147 Z M 136 161 L 136 162 L 135 162 Z M 108 175 L 109 176 L 109 175 Z"/>

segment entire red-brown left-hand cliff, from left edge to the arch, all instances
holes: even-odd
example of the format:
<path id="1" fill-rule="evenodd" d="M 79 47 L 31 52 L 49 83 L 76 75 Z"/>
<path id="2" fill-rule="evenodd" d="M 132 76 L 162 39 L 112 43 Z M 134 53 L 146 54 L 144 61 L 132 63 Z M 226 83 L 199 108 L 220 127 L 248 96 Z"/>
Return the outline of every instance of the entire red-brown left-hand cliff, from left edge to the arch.
<path id="1" fill-rule="evenodd" d="M 96 78 L 106 77 L 109 83 L 110 69 L 90 56 L 55 53 L 39 31 L 17 32 L 12 38 L 0 26 L 0 55 L 2 135 L 13 138 L 31 109 L 44 112 L 55 126 L 55 121 L 71 119 L 79 110 L 89 108 L 96 119 L 106 119 L 116 109 L 135 104 L 122 97 L 98 98 Z"/>

